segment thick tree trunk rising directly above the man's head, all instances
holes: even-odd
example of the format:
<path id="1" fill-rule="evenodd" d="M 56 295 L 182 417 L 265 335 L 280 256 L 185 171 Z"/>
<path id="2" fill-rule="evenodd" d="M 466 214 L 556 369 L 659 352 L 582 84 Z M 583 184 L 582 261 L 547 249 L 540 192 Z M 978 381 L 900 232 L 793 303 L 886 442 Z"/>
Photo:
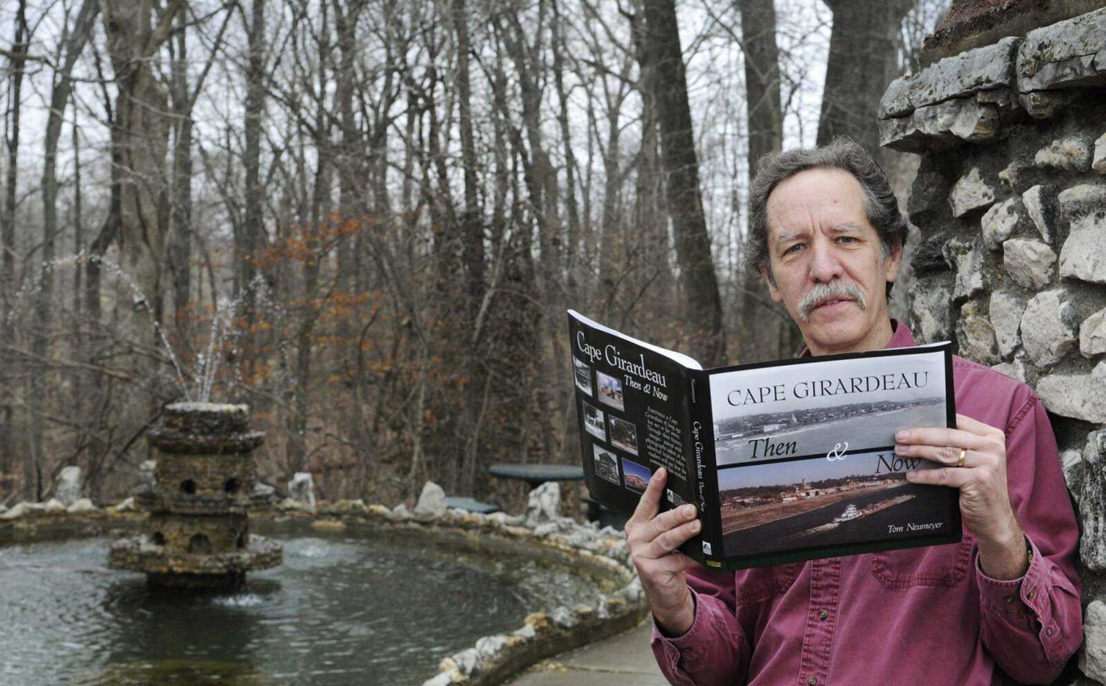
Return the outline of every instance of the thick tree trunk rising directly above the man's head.
<path id="1" fill-rule="evenodd" d="M 897 36 L 912 0 L 826 0 L 833 11 L 817 144 L 848 136 L 879 152 L 879 98 L 898 72 Z"/>

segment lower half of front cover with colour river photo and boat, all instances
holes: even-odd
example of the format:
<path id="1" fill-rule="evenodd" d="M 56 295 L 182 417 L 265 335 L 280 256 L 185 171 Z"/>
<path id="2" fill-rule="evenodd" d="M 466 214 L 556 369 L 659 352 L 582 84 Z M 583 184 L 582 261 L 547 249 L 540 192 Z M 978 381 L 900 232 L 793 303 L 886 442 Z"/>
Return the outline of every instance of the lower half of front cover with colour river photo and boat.
<path id="1" fill-rule="evenodd" d="M 879 451 L 719 469 L 722 552 L 763 555 L 949 534 L 947 500 L 927 493 L 937 486 L 909 484 L 904 476 L 935 466 Z"/>

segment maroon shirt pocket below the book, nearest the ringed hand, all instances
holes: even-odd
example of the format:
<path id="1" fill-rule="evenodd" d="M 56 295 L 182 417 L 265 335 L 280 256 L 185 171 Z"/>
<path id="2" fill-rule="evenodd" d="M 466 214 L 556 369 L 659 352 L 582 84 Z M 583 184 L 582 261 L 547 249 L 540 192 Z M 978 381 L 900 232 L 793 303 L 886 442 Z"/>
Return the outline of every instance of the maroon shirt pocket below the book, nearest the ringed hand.
<path id="1" fill-rule="evenodd" d="M 872 576 L 887 589 L 951 588 L 964 583 L 975 537 L 967 529 L 959 543 L 888 550 L 872 555 Z"/>

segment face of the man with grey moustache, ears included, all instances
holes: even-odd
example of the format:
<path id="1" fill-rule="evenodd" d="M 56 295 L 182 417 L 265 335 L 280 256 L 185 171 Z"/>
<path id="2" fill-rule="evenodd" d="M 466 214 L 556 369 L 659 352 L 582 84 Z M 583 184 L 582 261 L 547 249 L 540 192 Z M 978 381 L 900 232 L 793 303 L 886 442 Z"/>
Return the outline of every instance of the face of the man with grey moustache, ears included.
<path id="1" fill-rule="evenodd" d="M 808 169 L 768 198 L 772 299 L 783 303 L 813 355 L 876 350 L 890 341 L 886 282 L 901 250 L 883 257 L 864 191 L 842 169 Z"/>

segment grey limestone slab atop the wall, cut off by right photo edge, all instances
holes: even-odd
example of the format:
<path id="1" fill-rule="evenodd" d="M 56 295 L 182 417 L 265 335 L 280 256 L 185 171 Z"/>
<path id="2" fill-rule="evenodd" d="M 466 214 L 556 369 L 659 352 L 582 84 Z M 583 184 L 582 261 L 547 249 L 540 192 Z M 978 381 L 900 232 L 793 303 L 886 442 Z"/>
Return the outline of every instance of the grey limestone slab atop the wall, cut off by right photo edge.
<path id="1" fill-rule="evenodd" d="M 1106 9 L 1030 31 L 1018 50 L 1018 89 L 1106 85 L 1095 53 L 1106 49 Z"/>

